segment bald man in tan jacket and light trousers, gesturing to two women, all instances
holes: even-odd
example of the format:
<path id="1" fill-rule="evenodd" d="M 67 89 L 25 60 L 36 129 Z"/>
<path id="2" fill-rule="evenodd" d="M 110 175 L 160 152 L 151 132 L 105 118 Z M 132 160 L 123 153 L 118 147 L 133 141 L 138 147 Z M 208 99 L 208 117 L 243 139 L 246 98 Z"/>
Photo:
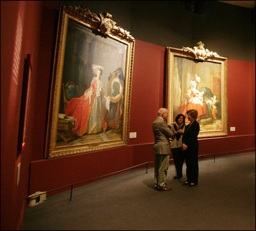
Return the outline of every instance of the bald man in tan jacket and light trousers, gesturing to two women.
<path id="1" fill-rule="evenodd" d="M 168 111 L 166 108 L 158 110 L 158 116 L 153 122 L 153 133 L 155 137 L 155 188 L 158 191 L 171 190 L 166 186 L 167 170 L 169 168 L 169 155 L 171 147 L 169 138 L 173 135 L 172 129 L 167 125 Z"/>

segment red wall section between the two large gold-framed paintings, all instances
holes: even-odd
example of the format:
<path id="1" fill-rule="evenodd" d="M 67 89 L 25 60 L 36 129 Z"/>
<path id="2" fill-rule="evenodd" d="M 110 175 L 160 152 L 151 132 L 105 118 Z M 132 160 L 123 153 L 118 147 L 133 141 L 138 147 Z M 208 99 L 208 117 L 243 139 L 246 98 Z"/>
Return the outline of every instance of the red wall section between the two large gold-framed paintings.
<path id="1" fill-rule="evenodd" d="M 136 40 L 133 64 L 129 144 L 153 142 L 152 123 L 163 107 L 165 47 Z"/>

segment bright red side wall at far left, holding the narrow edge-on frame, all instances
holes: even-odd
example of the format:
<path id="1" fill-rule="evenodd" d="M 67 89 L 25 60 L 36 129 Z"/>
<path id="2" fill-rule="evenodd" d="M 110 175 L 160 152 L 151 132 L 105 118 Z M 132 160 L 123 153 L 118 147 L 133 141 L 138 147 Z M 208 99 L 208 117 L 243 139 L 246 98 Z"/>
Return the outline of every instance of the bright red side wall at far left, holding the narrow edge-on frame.
<path id="1" fill-rule="evenodd" d="M 20 229 L 26 208 L 31 123 L 25 149 L 18 159 L 17 137 L 26 54 L 31 54 L 33 61 L 33 81 L 37 76 L 41 6 L 40 1 L 1 1 L 1 230 Z M 33 81 L 31 89 L 35 91 Z M 21 173 L 16 186 L 19 163 Z"/>

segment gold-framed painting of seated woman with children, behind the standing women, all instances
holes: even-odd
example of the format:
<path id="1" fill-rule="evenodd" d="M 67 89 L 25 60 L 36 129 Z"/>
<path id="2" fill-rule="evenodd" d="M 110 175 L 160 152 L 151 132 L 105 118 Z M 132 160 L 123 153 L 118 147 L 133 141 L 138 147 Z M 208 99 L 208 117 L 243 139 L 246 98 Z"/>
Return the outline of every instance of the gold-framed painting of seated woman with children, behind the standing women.
<path id="1" fill-rule="evenodd" d="M 227 89 L 226 58 L 205 49 L 202 42 L 196 47 L 166 48 L 166 103 L 168 122 L 189 109 L 198 111 L 199 138 L 226 136 Z M 186 123 L 189 121 L 185 120 Z"/>

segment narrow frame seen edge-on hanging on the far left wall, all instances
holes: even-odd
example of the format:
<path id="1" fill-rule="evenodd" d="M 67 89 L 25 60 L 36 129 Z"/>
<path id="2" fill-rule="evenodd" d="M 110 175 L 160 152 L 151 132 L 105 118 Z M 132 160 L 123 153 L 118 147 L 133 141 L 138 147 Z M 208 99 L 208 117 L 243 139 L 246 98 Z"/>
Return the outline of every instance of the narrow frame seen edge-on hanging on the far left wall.
<path id="1" fill-rule="evenodd" d="M 21 113 L 19 121 L 17 157 L 19 157 L 19 155 L 21 154 L 26 143 L 26 129 L 28 124 L 28 113 L 30 109 L 31 71 L 31 56 L 30 54 L 27 54 L 24 64 L 24 76 L 22 83 Z"/>

